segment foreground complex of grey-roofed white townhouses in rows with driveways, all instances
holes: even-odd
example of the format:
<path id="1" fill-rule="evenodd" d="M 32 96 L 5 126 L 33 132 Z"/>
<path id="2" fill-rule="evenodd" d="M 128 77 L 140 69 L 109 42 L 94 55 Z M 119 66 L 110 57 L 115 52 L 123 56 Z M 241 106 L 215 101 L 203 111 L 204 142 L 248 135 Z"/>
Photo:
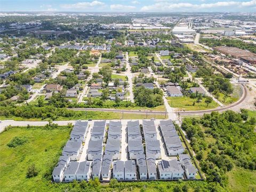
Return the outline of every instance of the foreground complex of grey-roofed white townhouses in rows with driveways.
<path id="1" fill-rule="evenodd" d="M 76 121 L 52 172 L 53 182 L 195 180 L 197 175 L 171 120 Z"/>

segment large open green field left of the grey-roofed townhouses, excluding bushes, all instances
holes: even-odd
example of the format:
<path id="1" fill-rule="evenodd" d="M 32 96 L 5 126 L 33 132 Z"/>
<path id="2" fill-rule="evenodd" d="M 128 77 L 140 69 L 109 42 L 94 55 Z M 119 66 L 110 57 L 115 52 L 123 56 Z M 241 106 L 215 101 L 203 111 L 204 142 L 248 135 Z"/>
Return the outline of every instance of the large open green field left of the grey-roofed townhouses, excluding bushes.
<path id="1" fill-rule="evenodd" d="M 68 140 L 70 130 L 67 127 L 46 130 L 43 128 L 15 127 L 0 134 L 1 191 L 49 191 L 54 188 L 46 173 L 58 161 L 61 147 Z M 10 148 L 6 144 L 13 137 L 25 136 L 27 143 Z M 28 166 L 35 164 L 38 175 L 26 178 Z"/>

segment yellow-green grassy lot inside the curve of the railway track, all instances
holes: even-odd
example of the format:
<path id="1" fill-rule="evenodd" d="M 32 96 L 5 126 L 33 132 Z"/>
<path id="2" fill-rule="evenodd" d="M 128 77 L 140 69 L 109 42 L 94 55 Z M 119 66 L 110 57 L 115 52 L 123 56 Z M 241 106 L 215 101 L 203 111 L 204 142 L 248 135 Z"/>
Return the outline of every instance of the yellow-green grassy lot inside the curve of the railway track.
<path id="1" fill-rule="evenodd" d="M 171 107 L 182 109 L 182 110 L 205 110 L 205 109 L 213 109 L 218 107 L 218 103 L 212 101 L 209 106 L 204 102 L 205 98 L 203 98 L 202 102 L 195 102 L 195 99 L 191 99 L 189 97 L 167 97 L 168 103 Z"/>

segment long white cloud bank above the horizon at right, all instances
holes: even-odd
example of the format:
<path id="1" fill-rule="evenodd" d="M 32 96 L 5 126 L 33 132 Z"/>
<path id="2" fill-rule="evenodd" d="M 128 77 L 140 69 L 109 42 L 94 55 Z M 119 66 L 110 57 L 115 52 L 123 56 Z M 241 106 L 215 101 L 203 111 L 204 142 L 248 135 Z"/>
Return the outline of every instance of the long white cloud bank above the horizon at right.
<path id="1" fill-rule="evenodd" d="M 157 0 L 161 1 L 161 0 Z M 203 3 L 203 4 L 191 4 L 191 3 L 170 3 L 167 1 L 157 2 L 153 5 L 143 6 L 141 7 L 141 11 L 182 11 L 182 10 L 190 10 L 201 11 L 202 9 L 212 9 L 214 7 L 230 7 L 237 8 L 253 6 L 256 5 L 256 0 L 252 0 L 249 2 L 238 2 L 238 1 L 224 1 L 224 2 L 216 2 L 216 3 Z M 178 10 L 180 9 L 180 10 Z"/>

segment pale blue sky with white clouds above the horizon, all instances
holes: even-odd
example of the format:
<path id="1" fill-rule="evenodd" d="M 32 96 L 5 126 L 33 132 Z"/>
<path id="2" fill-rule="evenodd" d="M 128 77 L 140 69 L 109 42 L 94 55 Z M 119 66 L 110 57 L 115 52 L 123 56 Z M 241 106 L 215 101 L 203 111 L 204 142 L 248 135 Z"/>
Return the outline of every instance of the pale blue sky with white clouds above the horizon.
<path id="1" fill-rule="evenodd" d="M 256 0 L 0 0 L 6 11 L 256 13 Z"/>

